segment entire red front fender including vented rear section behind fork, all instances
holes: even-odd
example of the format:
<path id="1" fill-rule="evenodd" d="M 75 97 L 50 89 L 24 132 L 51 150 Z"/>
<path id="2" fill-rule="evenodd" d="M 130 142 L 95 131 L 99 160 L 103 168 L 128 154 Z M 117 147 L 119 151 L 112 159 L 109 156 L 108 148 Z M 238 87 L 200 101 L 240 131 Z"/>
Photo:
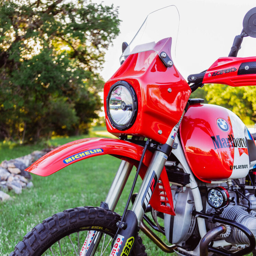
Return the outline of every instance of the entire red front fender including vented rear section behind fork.
<path id="1" fill-rule="evenodd" d="M 25 170 L 36 175 L 48 176 L 70 164 L 99 155 L 112 155 L 137 167 L 143 149 L 144 147 L 142 146 L 118 139 L 86 138 L 53 149 Z M 151 151 L 146 151 L 145 153 L 140 170 L 142 179 L 145 176 L 152 155 Z M 149 203 L 157 211 L 175 215 L 165 167 Z"/>

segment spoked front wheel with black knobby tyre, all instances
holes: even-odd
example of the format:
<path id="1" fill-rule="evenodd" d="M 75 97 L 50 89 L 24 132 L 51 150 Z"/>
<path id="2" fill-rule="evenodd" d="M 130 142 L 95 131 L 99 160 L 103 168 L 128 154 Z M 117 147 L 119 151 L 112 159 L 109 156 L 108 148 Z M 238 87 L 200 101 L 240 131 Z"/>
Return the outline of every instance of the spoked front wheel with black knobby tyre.
<path id="1" fill-rule="evenodd" d="M 36 225 L 9 256 L 109 256 L 120 219 L 117 213 L 100 207 L 68 209 Z M 97 237 L 99 243 L 93 246 Z M 132 255 L 147 256 L 139 236 Z"/>

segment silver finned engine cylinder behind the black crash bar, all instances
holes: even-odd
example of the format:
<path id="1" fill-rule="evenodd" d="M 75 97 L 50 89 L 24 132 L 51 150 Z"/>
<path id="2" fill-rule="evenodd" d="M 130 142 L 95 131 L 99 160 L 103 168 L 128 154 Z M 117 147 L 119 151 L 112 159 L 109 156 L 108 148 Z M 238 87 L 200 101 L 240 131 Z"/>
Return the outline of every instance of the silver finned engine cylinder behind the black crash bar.
<path id="1" fill-rule="evenodd" d="M 232 221 L 236 221 L 246 226 L 253 233 L 256 238 L 256 212 L 251 211 L 248 213 L 245 207 L 242 206 L 228 206 L 224 209 L 221 214 L 222 218 L 229 219 Z M 210 223 L 209 227 L 212 229 L 217 224 Z M 225 241 L 231 243 L 232 245 L 237 244 L 249 244 L 249 239 L 247 236 L 235 227 L 231 226 L 231 233 L 227 237 L 224 237 Z"/>

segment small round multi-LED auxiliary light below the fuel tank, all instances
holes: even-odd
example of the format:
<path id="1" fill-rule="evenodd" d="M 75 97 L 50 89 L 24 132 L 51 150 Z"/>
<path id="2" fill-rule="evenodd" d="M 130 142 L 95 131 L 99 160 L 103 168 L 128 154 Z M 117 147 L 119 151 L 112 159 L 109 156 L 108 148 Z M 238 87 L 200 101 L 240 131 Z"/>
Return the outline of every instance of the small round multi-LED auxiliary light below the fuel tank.
<path id="1" fill-rule="evenodd" d="M 206 198 L 211 207 L 218 209 L 228 203 L 229 192 L 223 187 L 211 188 L 207 191 Z"/>

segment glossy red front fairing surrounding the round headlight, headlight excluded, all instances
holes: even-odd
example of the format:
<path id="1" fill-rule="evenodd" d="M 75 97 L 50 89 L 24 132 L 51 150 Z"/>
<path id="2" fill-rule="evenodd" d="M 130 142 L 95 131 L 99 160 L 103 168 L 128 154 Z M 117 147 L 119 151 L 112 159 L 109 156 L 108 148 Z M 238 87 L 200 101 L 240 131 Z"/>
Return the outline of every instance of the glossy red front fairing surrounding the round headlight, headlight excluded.
<path id="1" fill-rule="evenodd" d="M 171 38 L 158 42 L 161 51 L 170 56 Z M 138 113 L 134 124 L 125 131 L 119 131 L 111 125 L 106 112 L 106 101 L 110 87 L 124 80 L 136 92 Z M 168 92 L 168 88 L 171 92 Z M 152 138 L 165 143 L 186 106 L 191 89 L 186 80 L 173 65 L 165 67 L 155 51 L 130 55 L 104 86 L 104 109 L 107 130 L 115 136 L 120 134 Z M 171 113 L 171 114 L 170 114 Z M 162 134 L 158 134 L 161 130 Z"/>

